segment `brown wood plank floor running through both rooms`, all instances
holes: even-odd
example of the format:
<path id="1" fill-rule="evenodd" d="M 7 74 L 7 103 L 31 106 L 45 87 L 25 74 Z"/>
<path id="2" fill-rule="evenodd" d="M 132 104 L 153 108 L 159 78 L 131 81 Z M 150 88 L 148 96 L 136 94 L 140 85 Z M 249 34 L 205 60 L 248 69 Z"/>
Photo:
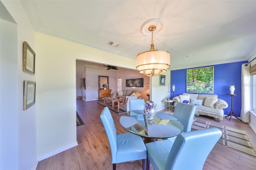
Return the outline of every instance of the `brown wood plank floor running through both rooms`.
<path id="1" fill-rule="evenodd" d="M 100 120 L 100 114 L 104 106 L 97 101 L 77 100 L 77 112 L 84 125 L 77 127 L 78 146 L 51 156 L 38 162 L 36 170 L 111 170 L 112 160 L 110 146 L 106 132 Z M 121 127 L 119 118 L 122 115 L 111 111 L 116 125 L 117 133 L 127 132 Z M 218 123 L 210 117 L 201 117 L 207 121 Z M 248 123 L 238 119 L 224 118 L 223 125 L 246 130 L 254 146 L 256 146 L 256 134 Z M 200 153 L 195 153 L 195 156 Z M 186 161 L 185 161 L 186 162 Z M 140 170 L 142 161 L 134 163 L 116 164 L 117 170 Z M 255 170 L 256 158 L 236 152 L 232 149 L 216 144 L 204 164 L 203 170 Z"/>

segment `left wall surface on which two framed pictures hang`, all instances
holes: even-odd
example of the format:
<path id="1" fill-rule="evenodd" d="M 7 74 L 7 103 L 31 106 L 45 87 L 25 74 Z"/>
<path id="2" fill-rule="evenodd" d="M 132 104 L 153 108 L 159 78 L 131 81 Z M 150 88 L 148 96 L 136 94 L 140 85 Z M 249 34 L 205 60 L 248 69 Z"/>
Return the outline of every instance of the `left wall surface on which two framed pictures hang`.
<path id="1" fill-rule="evenodd" d="M 1 20 L 0 169 L 35 169 L 36 105 L 23 111 L 23 89 L 36 75 L 22 72 L 23 41 L 36 51 L 35 32 L 20 1 L 1 2 L 16 24 Z"/>

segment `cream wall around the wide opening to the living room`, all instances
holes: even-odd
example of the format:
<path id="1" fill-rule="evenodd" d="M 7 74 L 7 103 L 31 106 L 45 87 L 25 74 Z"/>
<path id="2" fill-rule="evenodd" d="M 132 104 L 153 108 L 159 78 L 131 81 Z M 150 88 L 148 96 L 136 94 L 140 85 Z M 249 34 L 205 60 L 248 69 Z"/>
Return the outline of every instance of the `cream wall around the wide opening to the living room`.
<path id="1" fill-rule="evenodd" d="M 76 145 L 76 59 L 106 64 L 112 60 L 113 65 L 134 67 L 135 61 L 41 33 L 36 33 L 36 52 L 37 156 L 41 160 Z M 86 77 L 90 89 L 87 81 L 90 77 Z M 96 83 L 98 89 L 98 75 Z"/>

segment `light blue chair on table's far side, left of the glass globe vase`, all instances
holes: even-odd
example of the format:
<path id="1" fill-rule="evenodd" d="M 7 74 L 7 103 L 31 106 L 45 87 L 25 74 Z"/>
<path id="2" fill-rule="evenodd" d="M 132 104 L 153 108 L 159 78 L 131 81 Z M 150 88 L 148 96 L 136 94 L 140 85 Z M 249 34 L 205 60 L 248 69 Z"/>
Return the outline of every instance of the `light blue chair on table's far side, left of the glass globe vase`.
<path id="1" fill-rule="evenodd" d="M 144 121 L 144 99 L 130 100 L 130 116 L 135 117 L 138 121 Z"/>

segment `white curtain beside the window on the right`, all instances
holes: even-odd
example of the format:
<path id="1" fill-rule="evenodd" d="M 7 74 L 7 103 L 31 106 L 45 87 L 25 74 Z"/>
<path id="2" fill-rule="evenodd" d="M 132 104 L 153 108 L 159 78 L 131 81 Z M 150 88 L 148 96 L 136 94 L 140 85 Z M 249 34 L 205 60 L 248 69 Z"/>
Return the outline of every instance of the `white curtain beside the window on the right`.
<path id="1" fill-rule="evenodd" d="M 241 119 L 245 123 L 250 123 L 250 64 L 242 64 L 241 92 Z"/>

